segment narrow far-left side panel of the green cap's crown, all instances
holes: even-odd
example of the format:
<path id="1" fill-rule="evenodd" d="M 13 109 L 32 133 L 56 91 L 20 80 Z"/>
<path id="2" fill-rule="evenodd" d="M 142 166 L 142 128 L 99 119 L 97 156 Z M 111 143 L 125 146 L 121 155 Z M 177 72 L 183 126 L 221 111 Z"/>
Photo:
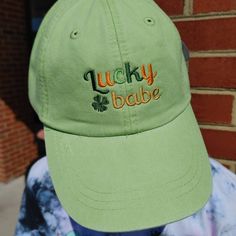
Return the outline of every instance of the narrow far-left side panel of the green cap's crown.
<path id="1" fill-rule="evenodd" d="M 48 41 L 55 24 L 76 0 L 59 0 L 44 17 L 36 35 L 30 57 L 29 66 L 29 99 L 31 105 L 37 111 L 42 122 L 48 117 L 48 82 L 45 74 L 45 57 L 47 54 Z"/>

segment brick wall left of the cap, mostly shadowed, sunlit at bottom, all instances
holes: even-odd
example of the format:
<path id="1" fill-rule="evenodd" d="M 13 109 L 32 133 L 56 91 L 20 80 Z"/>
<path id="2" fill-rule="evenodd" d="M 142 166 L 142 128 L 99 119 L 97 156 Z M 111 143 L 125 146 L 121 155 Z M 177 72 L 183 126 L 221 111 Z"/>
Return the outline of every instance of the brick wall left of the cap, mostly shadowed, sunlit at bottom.
<path id="1" fill-rule="evenodd" d="M 24 173 L 37 156 L 27 99 L 26 1 L 0 3 L 0 181 Z"/>

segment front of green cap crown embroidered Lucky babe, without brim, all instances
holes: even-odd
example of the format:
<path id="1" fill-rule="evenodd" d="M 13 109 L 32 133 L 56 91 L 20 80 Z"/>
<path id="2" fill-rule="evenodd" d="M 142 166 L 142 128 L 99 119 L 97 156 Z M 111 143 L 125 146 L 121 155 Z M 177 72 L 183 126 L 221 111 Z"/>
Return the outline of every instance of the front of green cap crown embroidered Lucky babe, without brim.
<path id="1" fill-rule="evenodd" d="M 179 34 L 150 2 L 79 1 L 47 48 L 44 123 L 56 130 L 134 134 L 170 122 L 189 103 Z"/>

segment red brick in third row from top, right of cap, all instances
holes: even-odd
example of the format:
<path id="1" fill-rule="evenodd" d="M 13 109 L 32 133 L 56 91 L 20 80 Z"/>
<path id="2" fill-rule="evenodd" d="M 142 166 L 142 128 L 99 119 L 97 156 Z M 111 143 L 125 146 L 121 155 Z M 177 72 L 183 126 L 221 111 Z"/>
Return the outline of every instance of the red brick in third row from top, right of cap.
<path id="1" fill-rule="evenodd" d="M 191 58 L 192 87 L 236 88 L 236 57 Z"/>

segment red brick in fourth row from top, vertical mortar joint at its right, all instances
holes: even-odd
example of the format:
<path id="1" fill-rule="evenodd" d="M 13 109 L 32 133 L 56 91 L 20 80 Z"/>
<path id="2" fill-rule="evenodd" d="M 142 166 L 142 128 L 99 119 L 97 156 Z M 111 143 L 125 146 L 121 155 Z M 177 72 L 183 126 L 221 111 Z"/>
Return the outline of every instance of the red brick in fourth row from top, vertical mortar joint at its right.
<path id="1" fill-rule="evenodd" d="M 197 120 L 204 124 L 231 124 L 234 96 L 192 94 L 192 106 Z"/>

